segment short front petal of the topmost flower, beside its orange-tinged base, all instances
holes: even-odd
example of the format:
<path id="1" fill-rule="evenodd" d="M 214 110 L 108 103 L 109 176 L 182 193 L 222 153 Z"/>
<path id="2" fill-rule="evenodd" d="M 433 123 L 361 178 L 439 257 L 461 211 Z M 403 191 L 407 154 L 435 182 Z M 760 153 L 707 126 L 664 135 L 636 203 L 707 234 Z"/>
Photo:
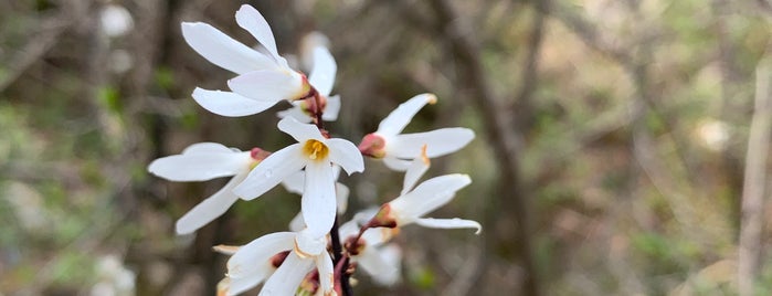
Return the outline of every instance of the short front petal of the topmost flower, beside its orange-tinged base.
<path id="1" fill-rule="evenodd" d="M 292 101 L 305 95 L 300 74 L 284 70 L 244 73 L 228 81 L 228 86 L 236 94 L 257 101 Z"/>

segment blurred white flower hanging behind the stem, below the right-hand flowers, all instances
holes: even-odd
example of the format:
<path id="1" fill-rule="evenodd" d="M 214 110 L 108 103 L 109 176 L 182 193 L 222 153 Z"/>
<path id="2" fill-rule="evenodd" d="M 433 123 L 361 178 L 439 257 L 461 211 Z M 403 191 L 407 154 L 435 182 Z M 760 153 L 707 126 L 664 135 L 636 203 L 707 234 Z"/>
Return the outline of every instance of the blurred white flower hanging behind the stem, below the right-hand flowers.
<path id="1" fill-rule="evenodd" d="M 355 218 L 340 225 L 341 243 L 353 243 L 349 240 L 356 239 L 359 233 L 361 222 L 372 218 L 378 209 L 362 211 Z M 364 218 L 364 219 L 362 219 Z M 383 286 L 396 284 L 401 274 L 402 252 L 395 244 L 384 244 L 389 237 L 382 234 L 382 229 L 368 229 L 359 239 L 351 258 L 357 262 L 357 266 L 362 267 L 372 279 Z"/>

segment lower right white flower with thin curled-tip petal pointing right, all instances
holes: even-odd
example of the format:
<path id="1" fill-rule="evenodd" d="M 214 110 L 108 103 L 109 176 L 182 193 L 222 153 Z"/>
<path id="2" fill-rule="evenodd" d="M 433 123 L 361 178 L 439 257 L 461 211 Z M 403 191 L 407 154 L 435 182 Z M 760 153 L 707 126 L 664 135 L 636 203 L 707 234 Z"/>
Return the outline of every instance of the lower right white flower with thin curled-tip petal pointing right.
<path id="1" fill-rule="evenodd" d="M 451 202 L 456 191 L 472 183 L 469 176 L 452 173 L 435 177 L 423 181 L 417 187 L 415 183 L 429 168 L 429 159 L 416 158 L 405 172 L 402 193 L 396 199 L 381 207 L 373 220 L 380 225 L 391 224 L 391 230 L 384 231 L 383 235 L 388 241 L 399 228 L 415 223 L 424 228 L 433 229 L 476 229 L 479 233 L 483 226 L 476 221 L 464 219 L 434 219 L 423 218 L 442 205 Z"/>

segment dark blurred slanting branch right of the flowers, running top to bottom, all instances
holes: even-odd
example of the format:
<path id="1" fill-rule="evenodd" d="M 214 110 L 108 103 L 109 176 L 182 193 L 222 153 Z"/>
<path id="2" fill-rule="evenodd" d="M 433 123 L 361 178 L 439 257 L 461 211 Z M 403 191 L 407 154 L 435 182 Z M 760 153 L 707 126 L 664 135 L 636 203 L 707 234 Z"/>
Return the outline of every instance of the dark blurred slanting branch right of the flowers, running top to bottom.
<path id="1" fill-rule="evenodd" d="M 514 137 L 516 133 L 507 128 L 509 125 L 499 112 L 500 107 L 490 89 L 486 72 L 479 60 L 479 56 L 482 56 L 478 44 L 472 40 L 474 35 L 473 29 L 462 21 L 455 9 L 448 2 L 444 0 L 432 0 L 430 3 L 436 14 L 436 23 L 429 28 L 435 28 L 436 35 L 441 36 L 443 41 L 448 44 L 450 51 L 461 70 L 458 71 L 458 80 L 472 89 L 473 103 L 483 114 L 482 118 L 485 125 L 486 137 L 488 138 L 488 142 L 493 146 L 491 148 L 499 163 L 499 190 L 495 191 L 498 193 L 496 194 L 498 199 L 491 199 L 486 202 L 488 208 L 485 212 L 485 224 L 488 226 L 496 225 L 498 222 L 497 220 L 507 219 L 507 216 L 498 215 L 499 211 L 503 209 L 511 209 L 515 215 L 515 222 L 517 223 L 517 236 L 501 240 L 508 240 L 510 242 L 517 241 L 521 245 L 518 255 L 525 271 L 525 276 L 520 294 L 540 295 L 531 252 L 528 205 L 522 194 L 518 171 L 519 152 L 515 147 L 516 138 Z M 482 256 L 486 256 L 488 255 L 487 253 L 493 252 L 494 243 L 499 239 L 491 235 L 491 233 L 496 233 L 495 230 L 488 231 L 488 234 L 486 234 L 486 250 L 483 251 Z M 480 272 L 475 273 L 477 275 L 486 273 L 485 269 L 487 266 L 485 266 L 485 264 L 487 264 L 488 261 L 482 260 L 480 262 L 482 265 L 478 266 Z M 474 282 L 478 284 L 478 287 L 480 286 L 480 281 Z"/>

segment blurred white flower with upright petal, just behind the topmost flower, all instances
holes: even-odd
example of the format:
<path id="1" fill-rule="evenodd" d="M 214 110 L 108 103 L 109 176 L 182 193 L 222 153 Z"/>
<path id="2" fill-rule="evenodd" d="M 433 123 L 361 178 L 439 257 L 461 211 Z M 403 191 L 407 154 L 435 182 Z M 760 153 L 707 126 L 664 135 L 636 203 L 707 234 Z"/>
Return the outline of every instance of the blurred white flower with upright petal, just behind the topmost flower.
<path id="1" fill-rule="evenodd" d="M 316 88 L 319 94 L 319 104 L 317 106 L 315 99 L 303 99 L 292 102 L 293 107 L 278 113 L 278 117 L 284 118 L 290 116 L 300 123 L 310 123 L 314 112 L 322 112 L 321 119 L 325 121 L 335 121 L 338 119 L 340 112 L 340 96 L 329 96 L 335 84 L 335 74 L 338 66 L 335 63 L 332 54 L 327 47 L 318 45 L 313 50 L 311 72 L 308 76 L 309 83 Z"/>

